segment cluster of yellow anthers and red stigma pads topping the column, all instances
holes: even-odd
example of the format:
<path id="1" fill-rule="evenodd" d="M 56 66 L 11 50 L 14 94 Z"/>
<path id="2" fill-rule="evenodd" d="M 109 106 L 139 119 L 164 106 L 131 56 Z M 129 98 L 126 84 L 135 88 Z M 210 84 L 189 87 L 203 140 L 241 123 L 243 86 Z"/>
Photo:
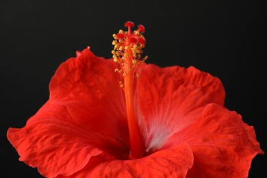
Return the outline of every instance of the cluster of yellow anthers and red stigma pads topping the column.
<path id="1" fill-rule="evenodd" d="M 145 31 L 143 25 L 138 25 L 138 29 L 132 31 L 133 22 L 127 21 L 125 27 L 127 31 L 120 29 L 118 34 L 113 34 L 114 50 L 112 50 L 112 57 L 114 62 L 119 64 L 119 68 L 115 72 L 120 73 L 123 77 L 131 75 L 131 77 L 138 77 L 141 70 L 140 64 L 147 60 L 147 55 L 142 58 L 142 49 L 146 44 L 146 39 L 142 35 Z M 123 84 L 120 84 L 123 86 Z"/>

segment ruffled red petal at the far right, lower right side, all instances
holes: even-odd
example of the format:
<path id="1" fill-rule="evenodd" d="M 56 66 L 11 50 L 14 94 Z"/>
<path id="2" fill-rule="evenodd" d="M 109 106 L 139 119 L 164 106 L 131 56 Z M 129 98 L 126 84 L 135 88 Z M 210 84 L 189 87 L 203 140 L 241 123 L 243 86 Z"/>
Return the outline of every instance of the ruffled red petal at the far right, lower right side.
<path id="1" fill-rule="evenodd" d="M 207 105 L 193 125 L 168 140 L 180 141 L 194 153 L 188 177 L 248 177 L 251 160 L 263 153 L 253 127 L 216 104 Z"/>

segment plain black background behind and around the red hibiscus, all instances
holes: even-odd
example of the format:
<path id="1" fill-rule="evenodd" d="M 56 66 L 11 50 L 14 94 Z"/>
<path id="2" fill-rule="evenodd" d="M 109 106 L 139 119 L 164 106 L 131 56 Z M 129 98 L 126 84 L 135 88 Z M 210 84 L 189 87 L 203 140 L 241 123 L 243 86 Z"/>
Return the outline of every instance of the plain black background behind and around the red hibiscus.
<path id="1" fill-rule="evenodd" d="M 260 1 L 264 2 L 264 1 Z M 259 1 L 0 1 L 1 177 L 41 177 L 6 138 L 49 98 L 49 81 L 75 51 L 111 58 L 125 21 L 146 27 L 145 55 L 159 66 L 195 66 L 221 79 L 225 106 L 266 147 L 266 9 Z M 257 155 L 249 177 L 266 177 Z"/>

